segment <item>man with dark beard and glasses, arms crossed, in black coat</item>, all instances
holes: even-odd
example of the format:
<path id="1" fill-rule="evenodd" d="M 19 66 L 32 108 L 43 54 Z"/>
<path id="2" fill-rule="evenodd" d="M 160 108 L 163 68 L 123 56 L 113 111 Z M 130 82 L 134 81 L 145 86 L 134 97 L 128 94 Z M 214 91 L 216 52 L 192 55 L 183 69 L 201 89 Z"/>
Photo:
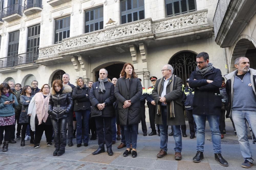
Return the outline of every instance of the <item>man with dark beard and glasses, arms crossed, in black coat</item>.
<path id="1" fill-rule="evenodd" d="M 215 154 L 215 160 L 222 166 L 228 166 L 228 162 L 221 155 L 221 136 L 219 130 L 219 116 L 221 109 L 220 90 L 222 76 L 220 69 L 216 69 L 209 63 L 209 55 L 205 52 L 196 56 L 197 67 L 189 78 L 189 87 L 195 88 L 193 101 L 193 117 L 196 122 L 197 153 L 194 162 L 204 159 L 205 122 L 206 118 L 211 129 L 211 140 Z"/>

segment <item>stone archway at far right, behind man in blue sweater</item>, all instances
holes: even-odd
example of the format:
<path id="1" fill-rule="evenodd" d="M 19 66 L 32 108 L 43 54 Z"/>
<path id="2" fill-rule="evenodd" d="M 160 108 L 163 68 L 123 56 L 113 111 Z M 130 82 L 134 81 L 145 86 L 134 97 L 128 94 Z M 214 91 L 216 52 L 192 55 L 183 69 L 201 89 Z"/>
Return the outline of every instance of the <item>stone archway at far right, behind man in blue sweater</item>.
<path id="1" fill-rule="evenodd" d="M 235 42 L 232 49 L 230 61 L 229 61 L 229 71 L 232 72 L 236 70 L 234 67 L 234 61 L 238 57 L 247 56 L 248 50 L 256 47 L 256 41 L 249 37 L 248 35 L 240 35 Z"/>

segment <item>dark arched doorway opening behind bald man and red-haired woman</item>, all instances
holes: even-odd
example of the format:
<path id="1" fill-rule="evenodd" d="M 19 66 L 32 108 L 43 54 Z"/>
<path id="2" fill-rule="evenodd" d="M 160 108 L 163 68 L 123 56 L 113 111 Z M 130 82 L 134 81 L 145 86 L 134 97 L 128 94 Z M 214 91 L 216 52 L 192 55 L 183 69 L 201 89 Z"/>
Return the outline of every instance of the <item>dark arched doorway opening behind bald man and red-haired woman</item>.
<path id="1" fill-rule="evenodd" d="M 108 71 L 108 78 L 110 80 L 112 80 L 114 77 L 116 77 L 117 79 L 119 78 L 120 72 L 122 71 L 123 67 L 124 67 L 124 63 L 117 63 L 117 64 L 114 63 L 110 66 L 103 67 L 103 68 L 105 68 Z M 97 71 L 95 71 L 95 78 L 96 78 L 95 81 L 98 81 L 98 79 L 99 79 L 100 69 L 101 68 L 99 68 Z"/>

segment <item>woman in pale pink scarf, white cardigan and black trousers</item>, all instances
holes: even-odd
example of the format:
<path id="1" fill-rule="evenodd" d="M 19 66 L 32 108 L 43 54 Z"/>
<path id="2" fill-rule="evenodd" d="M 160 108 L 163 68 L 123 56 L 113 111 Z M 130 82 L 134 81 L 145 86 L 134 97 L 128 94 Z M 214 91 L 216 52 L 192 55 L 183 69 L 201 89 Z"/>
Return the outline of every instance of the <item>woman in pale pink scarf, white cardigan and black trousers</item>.
<path id="1" fill-rule="evenodd" d="M 45 131 L 47 146 L 51 146 L 52 123 L 48 116 L 48 104 L 50 99 L 50 87 L 44 84 L 39 93 L 35 94 L 28 106 L 28 115 L 31 115 L 31 130 L 35 131 L 34 148 L 40 147 L 40 140 Z"/>

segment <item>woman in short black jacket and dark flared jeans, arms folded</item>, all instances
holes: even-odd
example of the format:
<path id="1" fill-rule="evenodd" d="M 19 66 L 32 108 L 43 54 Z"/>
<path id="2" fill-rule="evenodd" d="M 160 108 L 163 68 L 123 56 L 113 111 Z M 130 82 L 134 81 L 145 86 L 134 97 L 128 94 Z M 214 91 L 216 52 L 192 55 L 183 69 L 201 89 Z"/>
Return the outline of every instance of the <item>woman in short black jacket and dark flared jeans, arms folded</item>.
<path id="1" fill-rule="evenodd" d="M 90 89 L 84 84 L 82 77 L 77 80 L 77 87 L 73 88 L 74 111 L 77 120 L 77 147 L 88 146 L 89 141 L 89 118 L 91 112 Z M 82 135 L 83 133 L 83 135 Z M 83 139 L 82 139 L 83 137 Z"/>

